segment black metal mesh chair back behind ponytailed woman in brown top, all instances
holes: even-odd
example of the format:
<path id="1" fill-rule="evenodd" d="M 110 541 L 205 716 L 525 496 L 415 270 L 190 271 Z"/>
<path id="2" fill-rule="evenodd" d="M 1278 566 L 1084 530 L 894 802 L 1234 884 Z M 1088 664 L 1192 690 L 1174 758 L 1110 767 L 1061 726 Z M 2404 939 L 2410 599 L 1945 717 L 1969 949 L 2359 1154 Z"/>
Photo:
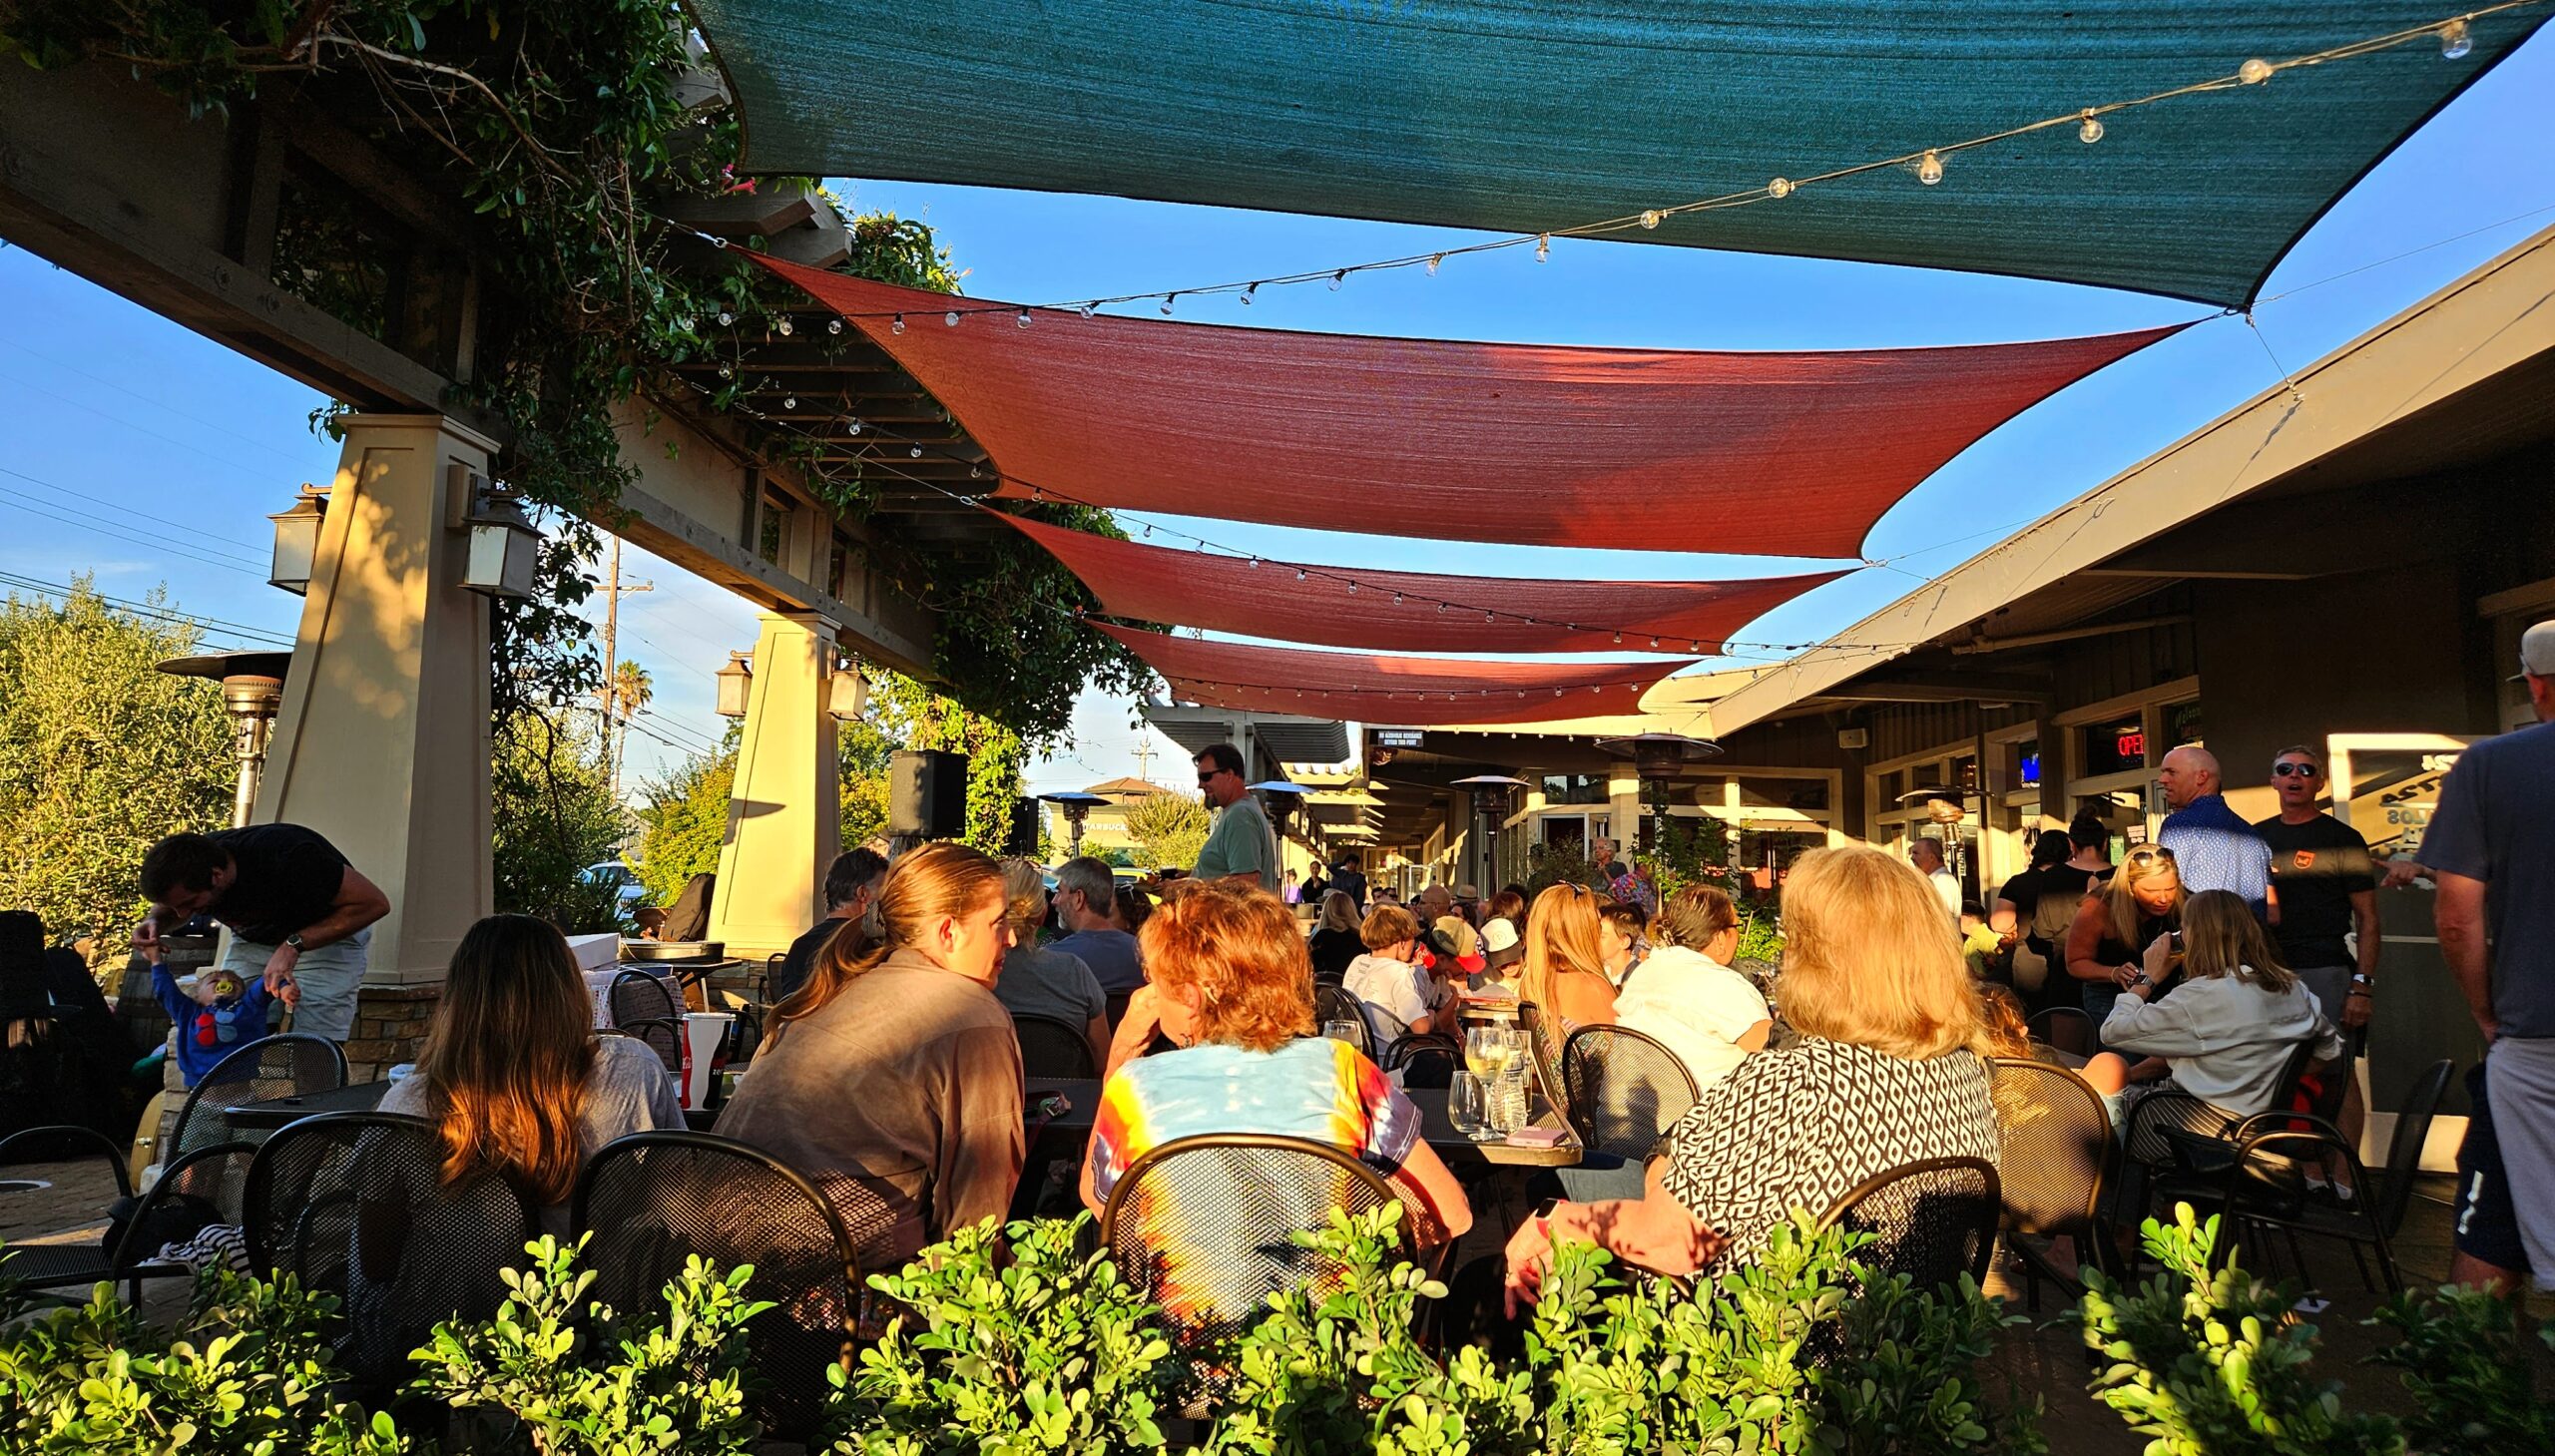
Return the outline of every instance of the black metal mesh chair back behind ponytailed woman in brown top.
<path id="1" fill-rule="evenodd" d="M 664 1318 L 664 1285 L 687 1254 L 754 1264 L 746 1298 L 774 1308 L 746 1323 L 749 1392 L 766 1436 L 807 1441 L 825 1367 L 843 1364 L 861 1316 L 861 1270 L 833 1203 L 782 1160 L 705 1132 L 634 1132 L 577 1175 L 570 1216 L 593 1234 L 593 1298 L 623 1321 Z M 700 1372 L 715 1374 L 715 1372 Z"/>

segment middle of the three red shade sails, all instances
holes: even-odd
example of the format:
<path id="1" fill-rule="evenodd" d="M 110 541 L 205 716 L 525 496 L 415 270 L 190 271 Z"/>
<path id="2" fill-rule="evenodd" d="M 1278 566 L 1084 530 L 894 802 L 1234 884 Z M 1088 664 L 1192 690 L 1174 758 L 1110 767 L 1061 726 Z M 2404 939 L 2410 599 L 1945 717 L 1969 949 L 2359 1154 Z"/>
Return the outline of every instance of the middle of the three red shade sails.
<path id="1" fill-rule="evenodd" d="M 1441 577 L 1178 552 L 1002 519 L 1053 552 L 1109 616 L 1387 651 L 1720 651 L 1732 631 L 1845 575 L 1748 582 Z"/>

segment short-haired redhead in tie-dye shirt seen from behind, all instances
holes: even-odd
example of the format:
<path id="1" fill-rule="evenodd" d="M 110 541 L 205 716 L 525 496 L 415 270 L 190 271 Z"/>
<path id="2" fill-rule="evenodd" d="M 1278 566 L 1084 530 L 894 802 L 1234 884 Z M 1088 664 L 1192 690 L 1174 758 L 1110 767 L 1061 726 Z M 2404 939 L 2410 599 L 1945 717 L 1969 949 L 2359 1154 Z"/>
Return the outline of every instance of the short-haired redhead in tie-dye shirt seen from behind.
<path id="1" fill-rule="evenodd" d="M 1421 1111 L 1357 1047 L 1313 1035 L 1313 966 L 1270 891 L 1198 884 L 1145 922 L 1147 986 L 1109 1047 L 1083 1203 L 1109 1203 L 1165 1142 L 1257 1132 L 1326 1142 L 1403 1193 L 1426 1241 L 1472 1226 L 1454 1175 L 1421 1139 Z M 1178 1050 L 1142 1055 L 1155 1032 Z"/>

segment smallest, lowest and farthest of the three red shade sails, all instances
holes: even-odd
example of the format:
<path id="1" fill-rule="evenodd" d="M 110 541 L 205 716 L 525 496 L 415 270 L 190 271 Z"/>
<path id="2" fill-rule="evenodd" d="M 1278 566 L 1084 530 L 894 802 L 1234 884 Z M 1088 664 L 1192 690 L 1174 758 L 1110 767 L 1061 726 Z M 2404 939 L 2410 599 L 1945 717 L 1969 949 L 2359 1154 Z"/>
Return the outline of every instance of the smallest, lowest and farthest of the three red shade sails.
<path id="1" fill-rule="evenodd" d="M 1295 651 L 1091 623 L 1119 639 L 1173 692 L 1209 708 L 1357 718 L 1362 723 L 1546 723 L 1633 713 L 1658 679 L 1691 662 L 1454 662 Z"/>

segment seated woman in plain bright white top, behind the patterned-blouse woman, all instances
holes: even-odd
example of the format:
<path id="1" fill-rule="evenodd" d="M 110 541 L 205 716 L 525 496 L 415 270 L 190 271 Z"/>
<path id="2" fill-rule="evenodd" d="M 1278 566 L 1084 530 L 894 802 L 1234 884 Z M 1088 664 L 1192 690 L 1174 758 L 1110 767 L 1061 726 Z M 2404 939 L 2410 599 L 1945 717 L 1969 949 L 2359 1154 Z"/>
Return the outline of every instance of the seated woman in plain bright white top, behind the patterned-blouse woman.
<path id="1" fill-rule="evenodd" d="M 1651 953 L 1615 991 L 1615 1024 L 1656 1037 L 1694 1073 L 1697 1091 L 1727 1078 L 1773 1029 L 1766 996 L 1730 968 L 1740 912 L 1709 884 L 1658 907 Z"/>

